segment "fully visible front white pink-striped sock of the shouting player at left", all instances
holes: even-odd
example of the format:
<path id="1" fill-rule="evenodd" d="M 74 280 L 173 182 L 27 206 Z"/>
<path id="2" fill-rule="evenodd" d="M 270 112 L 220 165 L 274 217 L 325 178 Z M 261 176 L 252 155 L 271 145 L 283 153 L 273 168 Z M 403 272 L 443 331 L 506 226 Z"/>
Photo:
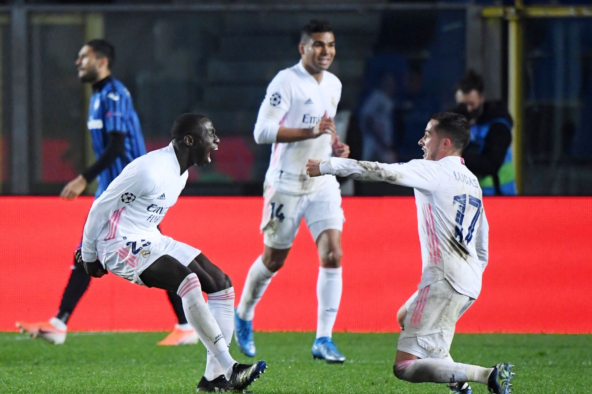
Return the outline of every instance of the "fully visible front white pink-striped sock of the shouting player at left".
<path id="1" fill-rule="evenodd" d="M 190 273 L 179 285 L 177 294 L 183 302 L 185 317 L 198 337 L 224 370 L 226 379 L 230 379 L 232 367 L 236 361 L 230 356 L 226 340 L 218 323 L 205 305 L 201 295 L 200 279 L 195 273 Z"/>

